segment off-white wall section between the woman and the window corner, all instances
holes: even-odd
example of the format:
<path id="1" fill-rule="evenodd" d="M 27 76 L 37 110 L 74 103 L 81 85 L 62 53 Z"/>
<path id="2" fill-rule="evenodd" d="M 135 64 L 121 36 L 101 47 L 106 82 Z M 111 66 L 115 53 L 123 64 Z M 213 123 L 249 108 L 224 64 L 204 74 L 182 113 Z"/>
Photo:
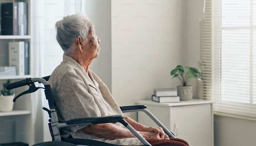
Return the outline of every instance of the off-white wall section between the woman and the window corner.
<path id="1" fill-rule="evenodd" d="M 112 0 L 112 94 L 120 106 L 178 84 L 170 71 L 182 65 L 185 2 Z"/>

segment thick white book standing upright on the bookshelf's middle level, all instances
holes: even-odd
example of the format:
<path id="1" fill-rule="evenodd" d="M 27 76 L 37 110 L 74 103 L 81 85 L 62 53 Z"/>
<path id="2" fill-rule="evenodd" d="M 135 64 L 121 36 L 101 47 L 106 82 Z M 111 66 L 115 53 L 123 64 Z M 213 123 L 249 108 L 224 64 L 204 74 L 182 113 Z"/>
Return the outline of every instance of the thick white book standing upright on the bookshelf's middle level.
<path id="1" fill-rule="evenodd" d="M 9 42 L 9 66 L 16 66 L 16 74 L 24 75 L 24 42 Z"/>

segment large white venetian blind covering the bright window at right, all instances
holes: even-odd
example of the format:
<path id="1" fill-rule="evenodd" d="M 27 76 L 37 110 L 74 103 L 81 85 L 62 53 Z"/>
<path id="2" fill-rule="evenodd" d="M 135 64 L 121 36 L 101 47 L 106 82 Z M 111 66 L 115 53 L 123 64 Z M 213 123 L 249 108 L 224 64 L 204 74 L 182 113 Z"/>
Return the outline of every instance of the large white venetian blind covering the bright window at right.
<path id="1" fill-rule="evenodd" d="M 215 112 L 256 119 L 255 28 L 256 0 L 212 2 L 211 85 Z"/>

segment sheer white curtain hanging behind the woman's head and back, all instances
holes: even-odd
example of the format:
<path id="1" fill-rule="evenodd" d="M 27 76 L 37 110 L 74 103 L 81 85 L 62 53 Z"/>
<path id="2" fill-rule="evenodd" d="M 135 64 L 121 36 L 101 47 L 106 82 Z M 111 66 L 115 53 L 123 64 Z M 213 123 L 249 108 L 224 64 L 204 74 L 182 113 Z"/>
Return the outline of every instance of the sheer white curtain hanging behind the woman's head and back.
<path id="1" fill-rule="evenodd" d="M 34 77 L 49 76 L 62 61 L 63 51 L 56 41 L 55 23 L 66 15 L 86 10 L 86 0 L 31 0 L 31 30 Z M 42 107 L 49 108 L 44 91 L 33 96 L 33 122 L 35 143 L 51 141 L 48 114 Z M 43 130 L 42 130 L 43 129 Z M 33 134 L 32 134 L 33 135 Z"/>

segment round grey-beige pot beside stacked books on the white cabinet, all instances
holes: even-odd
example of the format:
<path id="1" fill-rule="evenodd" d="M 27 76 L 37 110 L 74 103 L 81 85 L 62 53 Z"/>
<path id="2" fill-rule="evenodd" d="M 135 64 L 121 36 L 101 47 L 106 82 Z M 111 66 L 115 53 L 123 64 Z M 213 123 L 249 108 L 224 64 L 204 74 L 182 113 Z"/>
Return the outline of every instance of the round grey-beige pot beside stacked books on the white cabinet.
<path id="1" fill-rule="evenodd" d="M 193 98 L 192 86 L 177 86 L 180 100 L 191 100 Z"/>

